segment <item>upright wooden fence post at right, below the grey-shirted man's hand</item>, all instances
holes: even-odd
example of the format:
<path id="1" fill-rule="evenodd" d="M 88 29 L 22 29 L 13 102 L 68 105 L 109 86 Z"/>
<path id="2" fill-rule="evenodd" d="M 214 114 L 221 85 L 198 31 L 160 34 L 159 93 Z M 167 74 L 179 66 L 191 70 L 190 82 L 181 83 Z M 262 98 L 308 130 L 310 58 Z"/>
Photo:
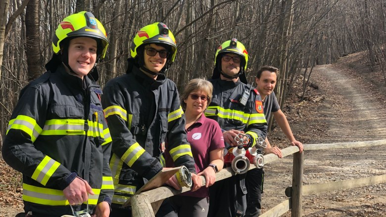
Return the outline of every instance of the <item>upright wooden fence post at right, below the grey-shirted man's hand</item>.
<path id="1" fill-rule="evenodd" d="M 303 153 L 293 154 L 291 217 L 301 217 L 303 186 Z"/>

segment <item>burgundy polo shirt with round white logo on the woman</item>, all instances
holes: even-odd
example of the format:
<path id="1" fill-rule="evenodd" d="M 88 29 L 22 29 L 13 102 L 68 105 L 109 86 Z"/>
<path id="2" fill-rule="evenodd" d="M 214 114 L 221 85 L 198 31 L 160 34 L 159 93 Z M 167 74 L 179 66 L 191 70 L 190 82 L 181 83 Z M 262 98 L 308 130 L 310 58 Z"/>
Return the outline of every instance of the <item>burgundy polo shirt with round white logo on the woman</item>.
<path id="1" fill-rule="evenodd" d="M 207 168 L 210 163 L 209 152 L 224 148 L 223 133 L 215 120 L 205 117 L 202 113 L 201 117 L 187 129 L 187 135 L 188 142 L 191 144 L 195 171 L 199 173 Z M 165 153 L 166 167 L 174 167 L 169 152 Z M 209 189 L 202 186 L 194 192 L 188 191 L 181 193 L 180 195 L 204 198 L 209 195 Z"/>

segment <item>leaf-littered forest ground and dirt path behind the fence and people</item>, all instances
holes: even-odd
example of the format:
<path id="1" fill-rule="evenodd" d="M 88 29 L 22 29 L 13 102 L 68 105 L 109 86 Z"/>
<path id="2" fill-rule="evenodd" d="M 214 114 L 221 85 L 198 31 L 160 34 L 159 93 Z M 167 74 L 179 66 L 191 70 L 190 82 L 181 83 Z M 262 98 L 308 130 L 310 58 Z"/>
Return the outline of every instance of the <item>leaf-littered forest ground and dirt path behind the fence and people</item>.
<path id="1" fill-rule="evenodd" d="M 285 103 L 295 138 L 303 144 L 381 140 L 386 138 L 386 88 L 380 70 L 369 72 L 361 53 L 313 69 L 306 99 L 299 101 L 301 80 Z M 321 100 L 323 99 L 323 100 Z M 279 127 L 268 135 L 272 145 L 289 145 Z M 385 174 L 386 145 L 305 151 L 303 184 L 358 179 Z M 262 212 L 287 199 L 292 157 L 265 166 Z M 0 217 L 23 211 L 20 173 L 0 157 Z M 290 212 L 284 214 L 289 217 Z M 386 217 L 386 184 L 303 196 L 303 216 Z"/>

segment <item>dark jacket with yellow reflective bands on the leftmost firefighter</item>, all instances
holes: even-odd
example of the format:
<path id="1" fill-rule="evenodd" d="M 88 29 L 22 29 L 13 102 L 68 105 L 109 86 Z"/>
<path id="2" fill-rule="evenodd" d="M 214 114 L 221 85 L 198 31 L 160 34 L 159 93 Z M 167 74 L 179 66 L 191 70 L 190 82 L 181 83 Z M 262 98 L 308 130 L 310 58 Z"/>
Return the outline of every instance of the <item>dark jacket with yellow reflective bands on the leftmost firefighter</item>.
<path id="1" fill-rule="evenodd" d="M 46 72 L 20 93 L 2 146 L 6 163 L 23 174 L 26 212 L 42 216 L 72 215 L 63 195 L 76 176 L 86 180 L 89 208 L 111 203 L 113 183 L 108 165 L 111 137 L 99 86 L 66 72 Z M 78 206 L 84 209 L 87 203 Z M 78 210 L 79 211 L 79 210 Z"/>

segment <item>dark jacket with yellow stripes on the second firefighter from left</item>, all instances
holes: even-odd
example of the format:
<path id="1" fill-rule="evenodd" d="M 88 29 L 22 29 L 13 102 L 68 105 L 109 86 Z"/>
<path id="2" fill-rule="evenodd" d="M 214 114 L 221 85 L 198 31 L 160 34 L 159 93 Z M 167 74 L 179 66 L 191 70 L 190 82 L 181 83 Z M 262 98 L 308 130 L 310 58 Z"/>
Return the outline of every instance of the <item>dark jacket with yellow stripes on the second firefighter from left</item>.
<path id="1" fill-rule="evenodd" d="M 166 142 L 174 164 L 195 172 L 176 84 L 163 74 L 154 80 L 132 67 L 106 83 L 102 98 L 112 138 L 112 203 L 117 207 L 144 185 L 144 179 L 162 170 Z"/>

